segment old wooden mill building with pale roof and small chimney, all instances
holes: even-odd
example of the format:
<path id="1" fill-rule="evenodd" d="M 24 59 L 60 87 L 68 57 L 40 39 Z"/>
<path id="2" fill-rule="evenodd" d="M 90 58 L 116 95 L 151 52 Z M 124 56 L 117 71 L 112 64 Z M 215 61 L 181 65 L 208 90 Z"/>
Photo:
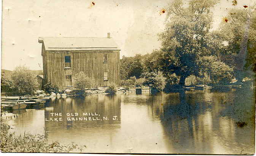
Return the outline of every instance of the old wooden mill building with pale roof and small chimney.
<path id="1" fill-rule="evenodd" d="M 98 87 L 120 84 L 120 49 L 110 37 L 39 37 L 43 79 L 60 88 L 74 85 L 76 73 L 94 78 Z"/>

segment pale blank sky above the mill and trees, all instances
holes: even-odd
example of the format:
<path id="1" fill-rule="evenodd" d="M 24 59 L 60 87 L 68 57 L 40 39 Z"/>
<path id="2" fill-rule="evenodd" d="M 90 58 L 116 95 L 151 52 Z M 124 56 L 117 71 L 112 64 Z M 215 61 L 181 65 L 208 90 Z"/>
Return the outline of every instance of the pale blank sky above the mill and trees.
<path id="1" fill-rule="evenodd" d="M 42 70 L 38 37 L 111 37 L 120 56 L 151 53 L 161 48 L 157 34 L 164 31 L 162 9 L 172 0 L 3 0 L 2 69 L 27 66 Z M 185 1 L 185 0 L 184 0 Z M 94 5 L 92 4 L 94 3 Z M 213 30 L 229 8 L 253 5 L 255 0 L 220 0 Z"/>

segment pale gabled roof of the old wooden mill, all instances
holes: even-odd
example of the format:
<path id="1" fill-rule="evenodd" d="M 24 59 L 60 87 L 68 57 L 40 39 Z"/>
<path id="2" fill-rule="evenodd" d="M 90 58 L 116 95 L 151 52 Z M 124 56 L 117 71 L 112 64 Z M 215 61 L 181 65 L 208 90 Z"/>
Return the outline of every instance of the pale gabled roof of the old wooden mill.
<path id="1" fill-rule="evenodd" d="M 120 50 L 112 38 L 107 37 L 39 37 L 45 50 Z"/>

